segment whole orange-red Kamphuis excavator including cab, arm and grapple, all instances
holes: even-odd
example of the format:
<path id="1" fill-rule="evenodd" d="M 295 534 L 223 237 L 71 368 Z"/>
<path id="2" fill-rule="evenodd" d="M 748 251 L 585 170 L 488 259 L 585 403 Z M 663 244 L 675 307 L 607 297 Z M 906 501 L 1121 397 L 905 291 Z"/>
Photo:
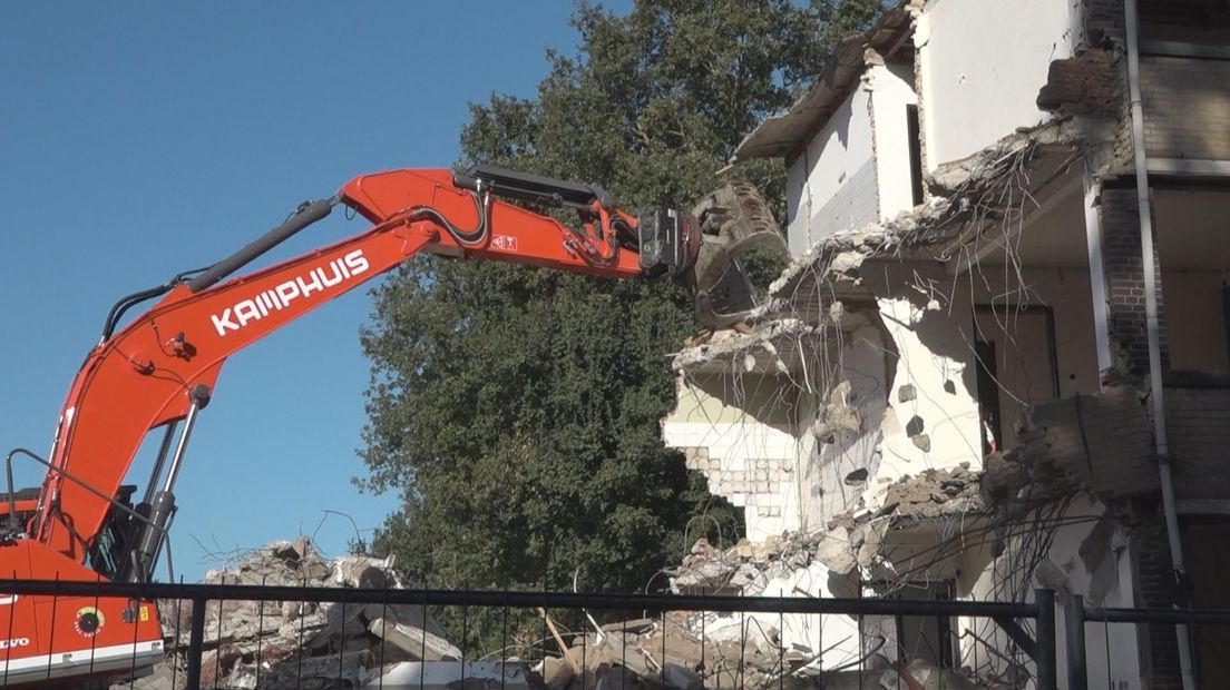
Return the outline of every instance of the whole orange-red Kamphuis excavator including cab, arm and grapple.
<path id="1" fill-rule="evenodd" d="M 234 276 L 337 205 L 373 226 Z M 533 209 L 572 209 L 577 226 Z M 718 328 L 754 306 L 738 258 L 765 247 L 786 255 L 763 200 L 739 183 L 710 194 L 695 212 L 633 216 L 597 185 L 491 166 L 357 177 L 331 199 L 304 203 L 231 257 L 116 303 L 73 381 L 49 455 L 25 448 L 9 454 L 0 578 L 153 582 L 176 512 L 176 479 L 226 359 L 421 252 L 680 280 L 695 292 L 700 323 Z M 127 312 L 151 300 L 124 323 Z M 159 452 L 138 496 L 124 479 L 148 435 Z M 41 486 L 14 489 L 18 455 L 46 465 Z M 7 685 L 97 685 L 140 673 L 164 653 L 151 600 L 2 592 L 0 580 L 0 678 Z"/>

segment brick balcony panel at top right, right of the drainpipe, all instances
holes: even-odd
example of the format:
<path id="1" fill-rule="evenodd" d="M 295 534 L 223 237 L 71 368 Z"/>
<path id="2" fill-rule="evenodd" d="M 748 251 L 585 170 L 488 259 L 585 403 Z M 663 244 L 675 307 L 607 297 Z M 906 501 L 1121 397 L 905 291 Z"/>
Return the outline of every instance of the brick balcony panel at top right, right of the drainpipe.
<path id="1" fill-rule="evenodd" d="M 1230 160 L 1230 61 L 1141 56 L 1140 95 L 1150 156 Z"/>

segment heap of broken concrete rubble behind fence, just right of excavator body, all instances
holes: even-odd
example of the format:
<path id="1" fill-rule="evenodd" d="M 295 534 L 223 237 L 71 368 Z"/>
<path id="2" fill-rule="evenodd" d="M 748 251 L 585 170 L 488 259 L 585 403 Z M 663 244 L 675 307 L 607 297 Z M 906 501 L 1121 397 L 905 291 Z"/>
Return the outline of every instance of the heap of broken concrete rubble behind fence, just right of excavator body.
<path id="1" fill-rule="evenodd" d="M 391 560 L 347 556 L 325 559 L 311 540 L 273 541 L 232 567 L 207 573 L 210 584 L 285 587 L 401 588 Z M 162 630 L 170 640 L 165 668 L 151 688 L 182 685 L 192 615 L 191 602 L 159 602 Z M 202 688 L 362 688 L 390 678 L 399 664 L 428 662 L 432 678 L 460 678 L 461 651 L 422 607 L 387 604 L 315 604 L 311 602 L 209 602 L 205 607 Z M 453 664 L 458 668 L 451 669 Z M 415 667 L 423 668 L 422 665 Z M 477 667 L 475 667 L 477 668 Z M 465 673 L 474 670 L 470 664 Z M 490 669 L 483 669 L 487 673 Z M 506 673 L 513 673 L 508 670 Z M 488 674 L 490 675 L 490 674 Z M 488 675 L 480 674 L 481 683 Z M 497 674 L 498 679 L 498 674 Z M 394 678 L 395 680 L 395 678 Z M 417 686 L 418 675 L 415 675 Z M 522 683 L 524 686 L 524 683 Z M 386 688 L 396 686 L 385 684 Z M 509 688 L 517 688 L 509 683 Z M 450 689 L 460 685 L 450 685 Z M 469 688 L 469 684 L 466 684 Z"/>

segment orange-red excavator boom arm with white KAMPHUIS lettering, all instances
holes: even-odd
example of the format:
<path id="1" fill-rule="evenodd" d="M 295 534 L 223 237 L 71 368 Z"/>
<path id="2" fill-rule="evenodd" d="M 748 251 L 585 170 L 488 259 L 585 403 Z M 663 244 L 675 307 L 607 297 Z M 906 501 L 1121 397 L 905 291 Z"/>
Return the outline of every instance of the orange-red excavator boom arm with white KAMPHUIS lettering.
<path id="1" fill-rule="evenodd" d="M 160 457 L 146 492 L 153 503 L 146 511 L 153 514 L 140 528 L 144 539 L 117 548 L 105 568 L 107 577 L 122 572 L 130 578 L 149 577 L 161 544 L 156 525 L 173 513 L 173 495 L 166 506 L 159 505 L 159 495 L 173 490 L 196 413 L 208 404 L 226 357 L 419 252 L 611 279 L 675 274 L 678 265 L 686 268 L 695 257 L 699 238 L 684 216 L 670 216 L 683 222 L 670 225 L 668 215 L 648 214 L 642 226 L 610 206 L 609 195 L 598 188 L 557 183 L 552 189 L 556 180 L 494 168 L 454 177 L 445 169 L 400 169 L 354 178 L 333 200 L 301 206 L 271 233 L 175 285 L 149 311 L 108 334 L 69 390 L 32 535 L 75 561 L 90 556 L 112 511 L 100 495 L 116 495 L 150 430 L 178 425 L 167 427 L 167 464 L 164 469 Z M 513 205 L 496 196 L 502 192 L 576 207 L 583 226 L 572 228 Z M 349 206 L 373 227 L 228 279 L 277 242 L 327 215 L 333 203 Z M 663 259 L 665 254 L 658 249 L 653 257 L 642 257 L 642 233 L 649 246 L 672 243 L 672 252 L 665 253 L 669 257 Z M 114 319 L 108 320 L 108 329 L 116 328 Z M 172 433 L 178 440 L 172 440 Z"/>

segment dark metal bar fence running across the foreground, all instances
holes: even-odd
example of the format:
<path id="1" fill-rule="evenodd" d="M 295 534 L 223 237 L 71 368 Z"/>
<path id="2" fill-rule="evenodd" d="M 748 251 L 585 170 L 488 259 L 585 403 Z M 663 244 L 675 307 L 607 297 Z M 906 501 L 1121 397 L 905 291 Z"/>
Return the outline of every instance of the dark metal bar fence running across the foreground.
<path id="1" fill-rule="evenodd" d="M 1075 689 L 1090 686 L 1086 626 L 1230 625 L 1230 611 L 1095 610 L 1086 609 L 1080 597 L 1068 595 L 1060 637 L 1060 609 L 1055 594 L 1047 589 L 1036 591 L 1031 603 L 63 581 L 0 581 L 0 593 L 49 597 L 53 608 L 59 600 L 81 597 L 157 602 L 166 632 L 166 659 L 159 662 L 159 673 L 149 675 L 150 668 L 139 668 L 133 657 L 132 667 L 96 674 L 89 685 L 133 689 L 800 690 L 879 689 L 895 683 L 905 690 L 1049 690 L 1061 686 L 1060 680 Z M 288 611 L 299 613 L 290 616 Z M 449 618 L 450 630 L 458 635 L 451 638 L 455 647 L 429 632 L 432 613 Z M 315 622 L 308 622 L 311 615 Z M 399 616 L 402 622 L 413 622 L 396 634 L 401 637 L 385 629 L 386 621 Z M 855 621 L 859 657 L 833 664 L 827 663 L 829 649 L 802 649 L 785 642 L 782 631 L 791 616 L 820 626 L 827 620 L 830 625 L 835 620 L 845 625 Z M 993 625 L 1014 652 L 1027 659 L 1028 673 L 1025 678 L 1005 675 L 995 685 L 968 672 L 958 674 L 953 667 L 959 659 L 950 658 L 947 669 L 920 674 L 909 664 L 904 647 L 877 654 L 881 649 L 862 640 L 863 621 L 873 618 L 897 621 L 899 630 L 902 621 L 911 619 L 935 622 L 961 618 Z M 246 641 L 234 634 L 236 626 L 250 634 Z M 357 637 L 347 640 L 349 634 Z M 363 636 L 370 648 L 358 640 Z M 323 642 L 314 645 L 315 638 Z M 763 640 L 770 642 L 768 649 L 756 645 Z M 1060 640 L 1065 647 L 1059 654 L 1065 667 L 1063 679 L 1057 663 Z M 362 643 L 352 643 L 355 641 Z M 451 651 L 440 648 L 442 643 Z M 26 649 L 7 643 L 4 647 L 0 664 L 7 672 L 10 661 Z M 1109 653 L 1109 647 L 1106 651 Z M 247 669 L 246 675 L 236 675 L 235 669 Z M 98 681 L 102 675 L 109 676 Z M 25 683 L 36 688 L 65 684 L 52 673 L 50 664 L 43 678 L 27 678 Z M 87 686 L 81 678 L 68 685 Z M 1093 686 L 1111 686 L 1109 674 Z"/>

